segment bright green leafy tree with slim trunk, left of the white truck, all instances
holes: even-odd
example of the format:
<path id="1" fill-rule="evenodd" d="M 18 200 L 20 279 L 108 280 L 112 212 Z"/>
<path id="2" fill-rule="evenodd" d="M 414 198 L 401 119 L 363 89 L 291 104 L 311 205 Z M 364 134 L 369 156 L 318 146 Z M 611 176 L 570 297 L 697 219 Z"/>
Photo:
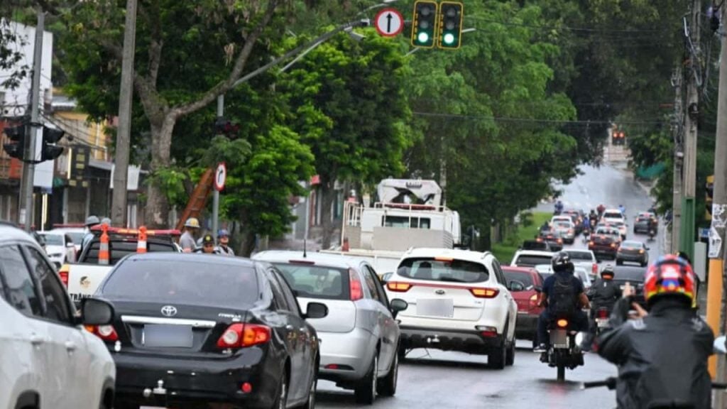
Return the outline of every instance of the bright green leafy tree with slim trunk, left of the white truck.
<path id="1" fill-rule="evenodd" d="M 340 34 L 281 76 L 290 95 L 294 129 L 316 157 L 321 178 L 322 246 L 331 245 L 337 180 L 375 183 L 398 175 L 409 145 L 408 73 L 395 41 L 366 31 L 362 41 Z"/>

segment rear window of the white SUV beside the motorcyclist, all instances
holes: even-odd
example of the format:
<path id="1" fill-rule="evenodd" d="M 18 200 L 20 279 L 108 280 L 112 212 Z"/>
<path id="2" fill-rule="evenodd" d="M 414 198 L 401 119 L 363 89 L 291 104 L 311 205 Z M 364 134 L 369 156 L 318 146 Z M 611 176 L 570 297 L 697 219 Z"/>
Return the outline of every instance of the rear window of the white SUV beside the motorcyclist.
<path id="1" fill-rule="evenodd" d="M 449 258 L 406 258 L 399 264 L 397 274 L 444 282 L 485 282 L 490 277 L 480 263 Z"/>

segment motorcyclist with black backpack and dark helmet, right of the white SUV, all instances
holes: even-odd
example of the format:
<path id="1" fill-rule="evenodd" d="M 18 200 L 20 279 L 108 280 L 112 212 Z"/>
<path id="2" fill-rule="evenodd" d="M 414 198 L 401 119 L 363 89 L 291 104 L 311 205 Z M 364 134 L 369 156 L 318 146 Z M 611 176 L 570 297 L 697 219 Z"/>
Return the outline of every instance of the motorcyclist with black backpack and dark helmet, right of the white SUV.
<path id="1" fill-rule="evenodd" d="M 554 274 L 543 282 L 540 305 L 545 303 L 546 308 L 538 317 L 538 346 L 534 352 L 547 351 L 547 325 L 552 319 L 567 318 L 574 330 L 588 330 L 588 317 L 579 307 L 588 308 L 590 303 L 583 283 L 574 276 L 575 267 L 570 255 L 564 251 L 555 253 L 551 265 Z"/>

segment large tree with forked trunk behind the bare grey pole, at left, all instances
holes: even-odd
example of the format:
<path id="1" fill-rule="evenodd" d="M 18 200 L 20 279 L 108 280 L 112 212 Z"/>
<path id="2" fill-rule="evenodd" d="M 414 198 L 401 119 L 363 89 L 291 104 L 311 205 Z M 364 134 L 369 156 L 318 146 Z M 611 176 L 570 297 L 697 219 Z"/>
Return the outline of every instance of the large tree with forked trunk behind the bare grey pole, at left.
<path id="1" fill-rule="evenodd" d="M 159 179 L 172 165 L 177 122 L 228 92 L 254 56 L 280 34 L 286 0 L 141 1 L 138 9 L 135 97 L 150 128 L 150 184 L 145 219 L 166 226 L 168 198 Z M 276 24 L 271 24 L 276 20 Z M 124 9 L 89 1 L 65 15 L 63 39 L 69 89 L 97 119 L 118 106 Z M 257 57 L 261 57 L 258 55 Z"/>

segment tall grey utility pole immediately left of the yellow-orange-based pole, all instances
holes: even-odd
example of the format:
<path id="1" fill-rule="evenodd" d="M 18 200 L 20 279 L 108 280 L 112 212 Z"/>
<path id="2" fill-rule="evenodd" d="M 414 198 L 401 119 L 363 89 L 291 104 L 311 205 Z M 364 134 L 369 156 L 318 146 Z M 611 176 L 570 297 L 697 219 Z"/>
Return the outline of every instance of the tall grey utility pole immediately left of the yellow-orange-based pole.
<path id="1" fill-rule="evenodd" d="M 702 21 L 702 0 L 694 0 L 691 8 L 691 23 L 688 31 L 688 84 L 686 90 L 686 117 L 684 130 L 684 169 L 681 208 L 681 229 L 679 250 L 694 257 L 694 197 L 696 196 L 696 134 L 699 120 L 699 86 L 697 77 L 699 63 L 699 31 Z"/>

